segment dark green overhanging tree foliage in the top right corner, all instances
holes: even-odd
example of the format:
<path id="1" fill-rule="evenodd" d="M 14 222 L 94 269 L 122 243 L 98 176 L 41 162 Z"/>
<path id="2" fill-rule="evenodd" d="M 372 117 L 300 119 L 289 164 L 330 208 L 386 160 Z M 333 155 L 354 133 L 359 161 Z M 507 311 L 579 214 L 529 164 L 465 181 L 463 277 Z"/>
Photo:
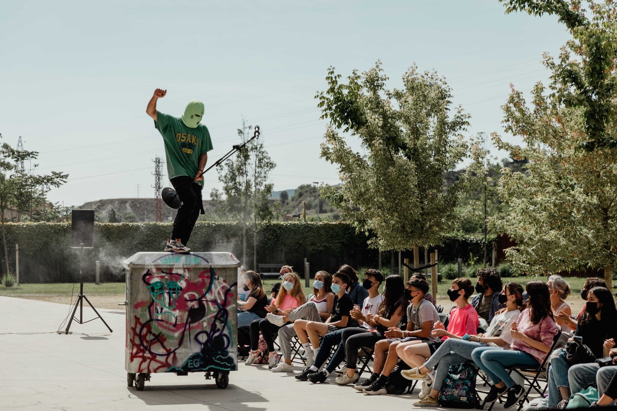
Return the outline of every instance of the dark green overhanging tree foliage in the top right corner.
<path id="1" fill-rule="evenodd" d="M 578 108 L 580 145 L 590 151 L 617 148 L 617 2 L 581 0 L 499 0 L 506 12 L 524 11 L 531 15 L 557 15 L 572 35 L 561 49 L 557 62 L 547 56 L 553 72 L 552 96 L 565 107 Z"/>

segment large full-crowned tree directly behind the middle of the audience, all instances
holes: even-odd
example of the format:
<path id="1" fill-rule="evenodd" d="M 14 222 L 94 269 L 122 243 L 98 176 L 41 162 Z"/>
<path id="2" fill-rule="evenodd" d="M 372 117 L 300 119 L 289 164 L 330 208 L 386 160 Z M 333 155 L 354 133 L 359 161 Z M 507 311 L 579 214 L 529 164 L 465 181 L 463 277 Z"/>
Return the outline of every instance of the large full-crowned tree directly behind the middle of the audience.
<path id="1" fill-rule="evenodd" d="M 480 187 L 483 151 L 470 144 L 469 115 L 453 107 L 451 89 L 437 73 L 412 66 L 403 89 L 386 89 L 381 62 L 341 83 L 333 67 L 328 89 L 315 96 L 322 118 L 329 119 L 321 157 L 335 163 L 342 187 L 323 187 L 323 195 L 358 231 L 376 234 L 369 246 L 410 250 L 420 261 L 419 246 L 437 245 L 458 227 L 461 198 Z M 339 131 L 358 137 L 366 155 L 354 152 Z M 457 181 L 444 174 L 465 158 L 470 165 Z M 416 265 L 417 266 L 417 265 Z"/>

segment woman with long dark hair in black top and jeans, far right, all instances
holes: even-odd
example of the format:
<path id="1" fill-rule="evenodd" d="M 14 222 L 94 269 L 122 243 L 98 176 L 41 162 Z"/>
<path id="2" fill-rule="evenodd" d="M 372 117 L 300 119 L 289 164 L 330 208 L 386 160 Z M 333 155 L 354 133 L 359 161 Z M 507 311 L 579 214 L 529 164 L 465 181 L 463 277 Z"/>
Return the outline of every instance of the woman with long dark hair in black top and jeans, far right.
<path id="1" fill-rule="evenodd" d="M 617 311 L 615 301 L 608 288 L 596 287 L 587 291 L 587 304 L 578 319 L 574 336 L 582 338 L 596 358 L 608 356 L 617 338 Z M 572 341 L 570 338 L 569 341 Z M 565 408 L 571 392 L 568 383 L 568 362 L 566 350 L 553 352 L 549 367 L 549 407 Z M 559 404 L 563 402 L 563 404 Z"/>

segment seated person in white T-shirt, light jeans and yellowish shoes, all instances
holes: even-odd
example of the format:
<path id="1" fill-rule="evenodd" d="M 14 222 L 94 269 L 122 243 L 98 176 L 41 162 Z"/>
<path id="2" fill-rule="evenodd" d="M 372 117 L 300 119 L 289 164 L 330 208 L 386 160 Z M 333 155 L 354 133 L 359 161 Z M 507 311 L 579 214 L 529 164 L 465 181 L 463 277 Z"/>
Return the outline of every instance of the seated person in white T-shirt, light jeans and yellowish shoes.
<path id="1" fill-rule="evenodd" d="M 510 344 L 514 341 L 510 334 L 510 328 L 521 314 L 523 287 L 518 283 L 506 284 L 501 293 L 499 293 L 499 303 L 505 304 L 505 308 L 495 314 L 486 334 L 470 335 L 468 340 L 463 340 L 458 335 L 451 335 L 450 338 L 439 346 L 437 351 L 424 365 L 405 372 L 406 378 L 412 378 L 413 380 L 424 380 L 427 375 L 433 375 L 431 393 L 420 401 L 421 405 L 437 404 L 439 391 L 450 366 L 463 364 L 463 362 L 471 360 L 471 353 L 474 349 L 487 347 L 487 344 L 510 348 Z M 437 365 L 439 366 L 437 367 Z"/>

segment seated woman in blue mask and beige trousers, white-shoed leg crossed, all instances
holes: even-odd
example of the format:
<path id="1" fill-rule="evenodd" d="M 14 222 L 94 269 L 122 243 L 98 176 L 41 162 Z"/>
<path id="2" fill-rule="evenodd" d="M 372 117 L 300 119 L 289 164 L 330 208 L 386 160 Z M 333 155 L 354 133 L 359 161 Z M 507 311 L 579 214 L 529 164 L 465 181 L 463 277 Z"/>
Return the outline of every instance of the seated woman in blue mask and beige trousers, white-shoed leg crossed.
<path id="1" fill-rule="evenodd" d="M 268 312 L 266 318 L 272 324 L 283 325 L 296 320 L 325 321 L 330 316 L 334 306 L 334 293 L 330 290 L 332 275 L 325 271 L 315 273 L 313 280 L 313 294 L 307 303 L 297 307 L 286 315 L 276 315 Z M 283 362 L 272 368 L 273 372 L 288 372 L 294 369 L 291 365 L 291 339 L 296 335 L 293 324 L 287 324 L 278 330 L 278 343 L 281 346 Z"/>

